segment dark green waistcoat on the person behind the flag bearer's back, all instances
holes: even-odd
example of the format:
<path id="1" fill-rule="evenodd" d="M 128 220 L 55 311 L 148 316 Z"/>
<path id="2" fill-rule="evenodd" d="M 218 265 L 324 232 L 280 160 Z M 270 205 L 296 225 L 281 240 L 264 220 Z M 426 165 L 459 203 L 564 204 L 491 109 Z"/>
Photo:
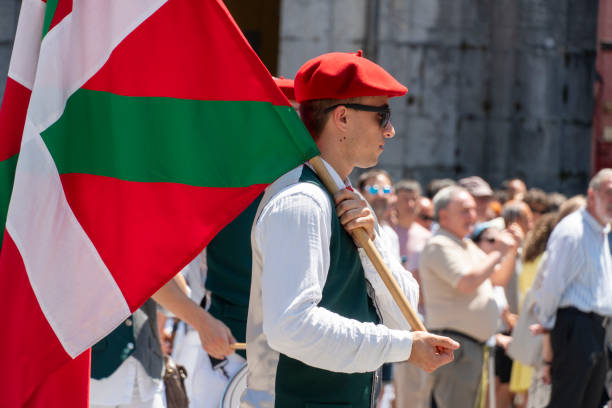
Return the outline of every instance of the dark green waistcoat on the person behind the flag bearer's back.
<path id="1" fill-rule="evenodd" d="M 209 312 L 232 331 L 238 342 L 246 341 L 246 321 L 251 291 L 251 227 L 260 194 L 206 247 L 206 289 L 211 291 Z M 246 358 L 243 350 L 238 354 Z"/>

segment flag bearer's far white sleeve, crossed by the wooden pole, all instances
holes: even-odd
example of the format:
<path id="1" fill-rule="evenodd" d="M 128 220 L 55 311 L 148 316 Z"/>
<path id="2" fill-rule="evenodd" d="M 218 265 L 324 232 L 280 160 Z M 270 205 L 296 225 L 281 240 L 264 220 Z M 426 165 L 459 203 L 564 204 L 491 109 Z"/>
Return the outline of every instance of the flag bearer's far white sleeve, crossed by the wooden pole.
<path id="1" fill-rule="evenodd" d="M 391 275 L 393 275 L 402 292 L 408 299 L 408 302 L 416 312 L 419 303 L 419 284 L 412 276 L 412 273 L 407 271 L 397 258 L 392 255 L 390 248 L 385 247 L 385 241 L 381 239 L 379 232 L 380 230 L 377 228 L 374 245 L 380 252 L 385 264 L 389 267 Z M 368 279 L 376 294 L 376 304 L 382 315 L 381 317 L 385 326 L 392 329 L 410 330 L 410 324 L 408 324 L 408 321 L 397 306 L 397 303 L 393 300 L 391 292 L 389 292 L 389 289 L 387 289 L 387 286 L 374 268 L 374 265 L 370 262 L 365 251 L 361 248 L 359 249 L 359 256 L 366 279 Z"/>

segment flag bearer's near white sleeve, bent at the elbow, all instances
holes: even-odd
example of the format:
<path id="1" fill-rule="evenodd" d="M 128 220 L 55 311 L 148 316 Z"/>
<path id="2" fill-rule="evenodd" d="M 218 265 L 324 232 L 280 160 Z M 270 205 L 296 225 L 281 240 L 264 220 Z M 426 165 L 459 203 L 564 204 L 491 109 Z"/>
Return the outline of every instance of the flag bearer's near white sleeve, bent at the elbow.
<path id="1" fill-rule="evenodd" d="M 410 357 L 412 335 L 319 307 L 330 264 L 331 203 L 299 184 L 263 209 L 255 224 L 261 252 L 263 332 L 271 348 L 310 366 L 367 372 Z"/>

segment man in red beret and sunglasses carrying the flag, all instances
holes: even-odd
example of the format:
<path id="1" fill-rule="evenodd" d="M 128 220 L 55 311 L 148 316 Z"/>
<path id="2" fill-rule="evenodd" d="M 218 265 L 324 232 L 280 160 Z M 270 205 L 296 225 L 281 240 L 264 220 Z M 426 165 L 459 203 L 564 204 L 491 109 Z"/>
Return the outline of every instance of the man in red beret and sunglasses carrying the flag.
<path id="1" fill-rule="evenodd" d="M 416 309 L 418 284 L 382 247 L 371 211 L 348 181 L 354 167 L 378 162 L 395 134 L 389 98 L 406 92 L 361 52 L 324 54 L 298 71 L 302 120 L 343 189 L 332 197 L 303 165 L 269 186 L 259 205 L 251 232 L 243 407 L 370 407 L 383 363 L 408 360 L 431 372 L 453 359 L 458 343 L 408 331 L 347 233 L 366 229 Z"/>

